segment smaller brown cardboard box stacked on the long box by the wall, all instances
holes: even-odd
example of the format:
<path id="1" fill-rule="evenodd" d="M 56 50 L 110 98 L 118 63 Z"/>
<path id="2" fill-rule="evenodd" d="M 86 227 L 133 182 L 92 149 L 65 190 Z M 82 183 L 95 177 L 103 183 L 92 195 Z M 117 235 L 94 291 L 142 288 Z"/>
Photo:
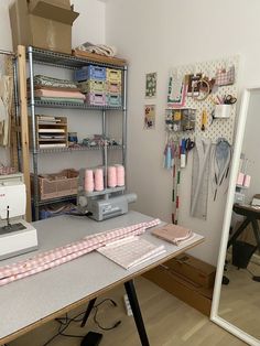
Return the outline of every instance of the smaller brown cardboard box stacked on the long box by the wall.
<path id="1" fill-rule="evenodd" d="M 191 255 L 182 253 L 165 262 L 164 266 L 204 288 L 214 286 L 216 268 Z"/>

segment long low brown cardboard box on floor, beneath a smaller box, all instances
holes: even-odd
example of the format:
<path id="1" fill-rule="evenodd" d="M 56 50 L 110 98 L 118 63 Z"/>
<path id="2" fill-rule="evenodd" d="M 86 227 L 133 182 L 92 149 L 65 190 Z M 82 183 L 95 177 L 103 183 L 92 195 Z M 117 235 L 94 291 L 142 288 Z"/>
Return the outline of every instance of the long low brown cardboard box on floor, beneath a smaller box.
<path id="1" fill-rule="evenodd" d="M 213 288 L 205 289 L 163 266 L 145 272 L 143 277 L 206 316 L 210 315 Z"/>

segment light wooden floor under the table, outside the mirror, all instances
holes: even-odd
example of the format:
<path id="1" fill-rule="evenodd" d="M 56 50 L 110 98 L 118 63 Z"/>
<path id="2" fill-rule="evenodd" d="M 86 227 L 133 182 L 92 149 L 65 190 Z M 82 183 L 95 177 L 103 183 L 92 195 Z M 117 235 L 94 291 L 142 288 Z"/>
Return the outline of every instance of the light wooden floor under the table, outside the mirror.
<path id="1" fill-rule="evenodd" d="M 154 283 L 140 278 L 136 280 L 136 288 L 141 305 L 147 332 L 151 346 L 241 346 L 243 342 L 225 332 L 206 316 L 196 310 L 184 304 L 170 293 L 160 289 Z M 123 286 L 110 291 L 106 298 L 112 298 L 118 306 L 109 303 L 101 305 L 98 311 L 98 321 L 102 326 L 109 327 L 118 320 L 121 324 L 112 331 L 100 331 L 89 318 L 85 328 L 80 328 L 79 323 L 72 323 L 66 331 L 77 335 L 85 335 L 89 331 L 104 334 L 100 346 L 140 346 L 136 325 L 131 316 L 127 316 L 122 296 Z M 100 301 L 102 298 L 99 298 Z M 69 315 L 74 316 L 80 310 L 73 311 Z M 19 339 L 8 344 L 9 346 L 42 346 L 57 332 L 57 322 L 51 322 L 23 335 Z M 69 338 L 58 336 L 50 345 L 52 346 L 76 346 L 80 345 L 80 338 Z"/>

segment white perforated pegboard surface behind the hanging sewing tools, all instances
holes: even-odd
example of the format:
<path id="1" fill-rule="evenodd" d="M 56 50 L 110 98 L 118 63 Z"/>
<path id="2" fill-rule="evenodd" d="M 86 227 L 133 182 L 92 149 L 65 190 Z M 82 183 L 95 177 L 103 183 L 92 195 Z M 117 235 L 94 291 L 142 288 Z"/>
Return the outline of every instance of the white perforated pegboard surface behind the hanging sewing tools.
<path id="1" fill-rule="evenodd" d="M 173 74 L 177 76 L 183 76 L 188 74 L 198 74 L 202 73 L 203 76 L 209 77 L 209 79 L 216 76 L 218 69 L 235 66 L 235 83 L 228 86 L 220 86 L 217 88 L 216 93 L 210 94 L 205 100 L 199 101 L 191 96 L 186 96 L 184 105 L 182 108 L 194 108 L 196 109 L 196 126 L 195 126 L 195 136 L 202 136 L 210 139 L 213 143 L 216 143 L 219 137 L 224 137 L 230 144 L 232 144 L 234 139 L 234 128 L 235 128 L 235 118 L 236 118 L 236 104 L 231 106 L 230 117 L 228 119 L 215 119 L 212 125 L 209 125 L 210 113 L 215 109 L 213 98 L 216 99 L 216 96 L 224 97 L 226 95 L 232 95 L 237 98 L 237 76 L 239 67 L 239 56 L 227 57 L 223 60 L 208 61 L 204 63 L 197 63 L 192 65 L 183 65 L 172 68 Z M 207 125 L 205 131 L 202 131 L 202 113 L 203 110 L 206 110 L 208 113 Z M 180 133 L 181 134 L 181 133 Z M 184 132 L 182 132 L 184 134 Z"/>

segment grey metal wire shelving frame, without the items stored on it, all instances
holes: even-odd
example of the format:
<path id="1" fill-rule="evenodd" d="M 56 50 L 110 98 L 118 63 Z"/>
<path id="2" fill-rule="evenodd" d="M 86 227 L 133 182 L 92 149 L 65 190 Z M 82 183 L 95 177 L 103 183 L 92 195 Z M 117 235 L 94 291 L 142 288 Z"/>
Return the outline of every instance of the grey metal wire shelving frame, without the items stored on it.
<path id="1" fill-rule="evenodd" d="M 71 201 L 76 198 L 75 196 L 67 196 L 62 198 L 53 198 L 47 201 L 40 199 L 39 193 L 39 154 L 47 153 L 63 153 L 63 152 L 75 152 L 75 151 L 88 151 L 88 150 L 99 150 L 102 151 L 102 165 L 105 166 L 105 188 L 107 188 L 107 166 L 108 166 L 108 150 L 121 150 L 122 152 L 122 164 L 126 166 L 126 154 L 127 154 L 127 77 L 128 77 L 128 67 L 119 66 L 109 63 L 94 62 L 89 58 L 77 57 L 74 55 L 56 53 L 52 51 L 45 51 L 29 46 L 26 50 L 26 60 L 29 63 L 29 80 L 30 80 L 30 101 L 29 108 L 32 117 L 32 171 L 33 171 L 33 192 L 34 196 L 32 198 L 33 215 L 35 220 L 39 219 L 40 206 L 46 205 L 50 203 L 58 203 L 63 201 Z M 122 106 L 121 107 L 109 107 L 109 106 L 89 106 L 86 104 L 75 104 L 75 102 L 65 102 L 65 101 L 42 101 L 37 100 L 34 97 L 34 65 L 47 65 L 66 69 L 77 69 L 88 64 L 105 66 L 110 68 L 117 68 L 122 71 Z M 122 143 L 120 145 L 97 145 L 97 147 L 87 147 L 87 145 L 77 145 L 68 148 L 52 148 L 52 149 L 39 149 L 36 145 L 36 121 L 35 121 L 35 110 L 36 108 L 64 108 L 64 109 L 79 109 L 84 111 L 96 110 L 101 112 L 102 116 L 102 136 L 107 137 L 107 111 L 116 110 L 122 112 Z"/>

